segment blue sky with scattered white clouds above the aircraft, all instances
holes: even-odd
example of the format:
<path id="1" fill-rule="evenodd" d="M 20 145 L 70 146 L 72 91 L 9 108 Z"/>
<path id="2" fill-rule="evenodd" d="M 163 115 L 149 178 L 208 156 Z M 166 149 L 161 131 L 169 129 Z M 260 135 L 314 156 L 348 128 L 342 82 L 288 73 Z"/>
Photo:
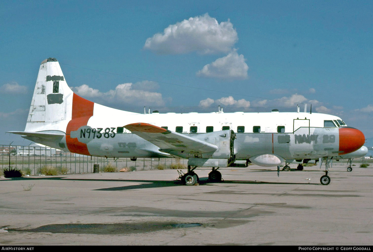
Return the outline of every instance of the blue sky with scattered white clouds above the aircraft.
<path id="1" fill-rule="evenodd" d="M 372 1 L 1 1 L 0 132 L 24 130 L 39 65 L 55 57 L 69 86 L 103 105 L 228 112 L 312 103 L 371 138 L 372 9 Z"/>

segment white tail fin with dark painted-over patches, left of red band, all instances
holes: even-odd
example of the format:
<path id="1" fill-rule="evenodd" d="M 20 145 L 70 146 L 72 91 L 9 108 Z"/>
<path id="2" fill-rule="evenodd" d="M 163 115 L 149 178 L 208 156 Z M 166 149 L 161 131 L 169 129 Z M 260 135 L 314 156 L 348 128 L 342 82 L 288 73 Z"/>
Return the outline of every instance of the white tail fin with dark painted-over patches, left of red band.
<path id="1" fill-rule="evenodd" d="M 25 131 L 65 131 L 72 116 L 73 91 L 55 58 L 41 62 Z"/>

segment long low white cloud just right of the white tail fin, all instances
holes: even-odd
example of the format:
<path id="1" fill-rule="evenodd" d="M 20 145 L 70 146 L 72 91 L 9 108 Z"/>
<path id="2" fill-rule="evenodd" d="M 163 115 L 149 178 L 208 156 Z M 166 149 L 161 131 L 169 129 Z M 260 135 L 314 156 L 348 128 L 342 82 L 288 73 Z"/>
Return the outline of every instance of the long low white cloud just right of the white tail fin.
<path id="1" fill-rule="evenodd" d="M 162 98 L 162 94 L 141 89 L 146 88 L 146 84 L 149 83 L 150 82 L 119 84 L 114 90 L 112 89 L 107 92 L 101 92 L 98 89 L 90 88 L 85 84 L 76 86 L 72 89 L 76 94 L 84 98 L 100 98 L 98 103 L 101 104 L 130 104 L 139 107 L 144 105 L 164 106 L 165 101 Z M 150 83 L 150 89 L 154 89 L 155 85 L 158 84 L 154 82 Z"/>

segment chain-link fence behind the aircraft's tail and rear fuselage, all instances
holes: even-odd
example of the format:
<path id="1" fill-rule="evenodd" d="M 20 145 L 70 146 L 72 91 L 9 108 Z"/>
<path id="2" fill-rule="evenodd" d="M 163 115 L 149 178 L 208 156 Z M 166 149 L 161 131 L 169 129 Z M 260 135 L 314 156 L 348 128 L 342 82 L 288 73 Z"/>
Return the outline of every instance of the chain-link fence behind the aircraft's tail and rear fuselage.
<path id="1" fill-rule="evenodd" d="M 50 147 L 36 145 L 10 146 L 0 145 L 1 169 L 16 168 L 25 174 L 43 174 L 46 170 L 55 173 L 91 173 L 94 164 L 100 171 L 113 171 L 125 168 L 126 171 L 186 168 L 188 160 L 178 158 L 104 158 L 74 154 Z"/>

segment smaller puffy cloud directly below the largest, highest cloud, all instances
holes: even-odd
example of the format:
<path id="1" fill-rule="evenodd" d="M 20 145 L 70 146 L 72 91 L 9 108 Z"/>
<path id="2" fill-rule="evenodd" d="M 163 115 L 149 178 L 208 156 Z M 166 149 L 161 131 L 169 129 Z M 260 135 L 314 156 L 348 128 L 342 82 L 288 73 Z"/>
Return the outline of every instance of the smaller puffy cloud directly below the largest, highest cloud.
<path id="1" fill-rule="evenodd" d="M 197 72 L 197 76 L 219 79 L 247 79 L 248 69 L 244 56 L 242 54 L 238 55 L 237 51 L 233 50 L 227 56 L 204 66 L 202 70 Z"/>

